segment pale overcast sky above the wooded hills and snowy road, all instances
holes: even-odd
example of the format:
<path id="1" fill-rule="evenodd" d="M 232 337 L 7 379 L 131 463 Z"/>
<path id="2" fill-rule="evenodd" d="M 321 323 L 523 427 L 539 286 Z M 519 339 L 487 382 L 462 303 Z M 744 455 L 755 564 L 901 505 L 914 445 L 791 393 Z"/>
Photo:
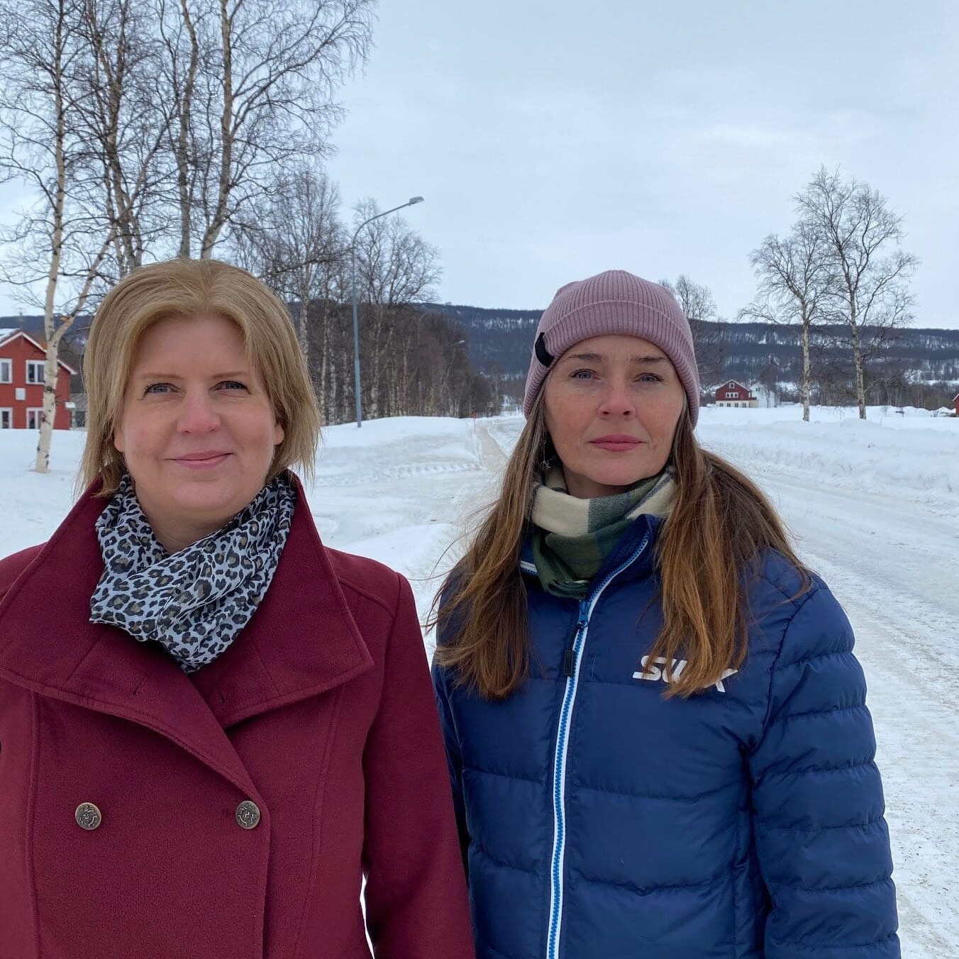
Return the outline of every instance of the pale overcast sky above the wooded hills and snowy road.
<path id="1" fill-rule="evenodd" d="M 959 327 L 959 3 L 382 0 L 375 43 L 329 170 L 346 205 L 426 197 L 441 300 L 543 308 L 621 268 L 734 316 L 825 163 L 905 217 L 917 323 Z"/>

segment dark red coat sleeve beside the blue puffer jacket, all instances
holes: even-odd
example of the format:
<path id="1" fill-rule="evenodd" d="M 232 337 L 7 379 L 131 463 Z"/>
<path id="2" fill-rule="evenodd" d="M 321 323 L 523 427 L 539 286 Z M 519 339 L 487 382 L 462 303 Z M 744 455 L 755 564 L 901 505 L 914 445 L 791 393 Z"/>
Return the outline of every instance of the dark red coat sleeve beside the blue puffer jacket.
<path id="1" fill-rule="evenodd" d="M 377 959 L 474 959 L 426 650 L 403 577 L 363 769 L 366 925 Z"/>

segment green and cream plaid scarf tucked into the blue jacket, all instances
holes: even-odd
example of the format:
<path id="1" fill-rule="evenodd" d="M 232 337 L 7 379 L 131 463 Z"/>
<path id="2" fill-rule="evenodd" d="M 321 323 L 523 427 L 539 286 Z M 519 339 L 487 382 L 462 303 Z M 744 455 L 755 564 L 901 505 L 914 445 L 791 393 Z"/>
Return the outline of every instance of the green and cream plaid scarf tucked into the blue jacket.
<path id="1" fill-rule="evenodd" d="M 643 513 L 666 516 L 672 507 L 672 472 L 642 479 L 614 496 L 580 500 L 566 491 L 563 467 L 550 466 L 533 490 L 532 552 L 543 589 L 582 599 L 622 534 Z"/>

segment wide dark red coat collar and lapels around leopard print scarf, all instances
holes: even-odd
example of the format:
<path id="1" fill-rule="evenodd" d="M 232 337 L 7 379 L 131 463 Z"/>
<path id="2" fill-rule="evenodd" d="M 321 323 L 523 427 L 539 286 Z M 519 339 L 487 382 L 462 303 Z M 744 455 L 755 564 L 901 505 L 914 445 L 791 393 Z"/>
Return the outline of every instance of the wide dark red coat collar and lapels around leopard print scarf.
<path id="1" fill-rule="evenodd" d="M 250 790 L 224 728 L 373 665 L 298 480 L 296 493 L 267 596 L 230 648 L 188 677 L 156 644 L 89 621 L 105 506 L 91 487 L 0 602 L 0 676 L 146 726 Z"/>

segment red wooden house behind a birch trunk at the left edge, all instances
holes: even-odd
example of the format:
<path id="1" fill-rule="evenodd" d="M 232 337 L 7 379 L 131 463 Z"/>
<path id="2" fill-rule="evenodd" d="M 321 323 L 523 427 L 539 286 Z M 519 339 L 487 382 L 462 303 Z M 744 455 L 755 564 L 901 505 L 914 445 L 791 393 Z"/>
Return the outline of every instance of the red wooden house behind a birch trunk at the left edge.
<path id="1" fill-rule="evenodd" d="M 43 415 L 46 350 L 23 330 L 0 330 L 0 430 L 38 430 Z M 70 429 L 70 377 L 60 363 L 54 429 Z"/>

